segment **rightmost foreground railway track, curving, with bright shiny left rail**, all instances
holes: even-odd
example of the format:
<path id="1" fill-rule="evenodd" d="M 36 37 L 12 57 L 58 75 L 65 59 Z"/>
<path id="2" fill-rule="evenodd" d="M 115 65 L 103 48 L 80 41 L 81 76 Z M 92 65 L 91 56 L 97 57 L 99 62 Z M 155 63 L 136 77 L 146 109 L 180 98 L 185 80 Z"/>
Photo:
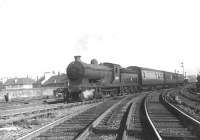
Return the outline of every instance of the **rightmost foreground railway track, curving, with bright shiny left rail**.
<path id="1" fill-rule="evenodd" d="M 148 96 L 145 100 L 145 107 L 146 115 L 157 139 L 199 139 L 195 130 L 199 129 L 200 123 L 193 125 L 192 118 L 180 113 L 181 111 L 175 106 L 171 106 L 160 93 Z"/>

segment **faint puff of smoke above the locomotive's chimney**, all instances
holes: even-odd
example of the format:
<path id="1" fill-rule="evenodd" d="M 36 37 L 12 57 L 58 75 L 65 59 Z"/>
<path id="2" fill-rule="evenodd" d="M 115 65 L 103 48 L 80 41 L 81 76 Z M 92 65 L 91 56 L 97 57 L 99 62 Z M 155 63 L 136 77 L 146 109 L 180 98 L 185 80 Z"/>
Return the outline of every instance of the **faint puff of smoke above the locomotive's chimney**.
<path id="1" fill-rule="evenodd" d="M 103 34 L 85 34 L 77 39 L 74 46 L 75 55 L 98 57 L 101 55 L 107 55 L 110 57 L 109 52 L 105 52 L 104 49 L 115 46 L 117 50 L 120 45 L 119 36 L 116 33 Z"/>

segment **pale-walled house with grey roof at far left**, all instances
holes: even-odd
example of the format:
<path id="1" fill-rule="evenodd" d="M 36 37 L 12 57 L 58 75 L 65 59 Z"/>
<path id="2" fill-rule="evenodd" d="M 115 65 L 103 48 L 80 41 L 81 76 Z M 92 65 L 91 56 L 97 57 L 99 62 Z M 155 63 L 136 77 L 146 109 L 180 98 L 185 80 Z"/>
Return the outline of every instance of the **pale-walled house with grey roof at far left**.
<path id="1" fill-rule="evenodd" d="M 6 90 L 9 89 L 31 89 L 35 81 L 31 78 L 11 78 L 4 83 Z"/>

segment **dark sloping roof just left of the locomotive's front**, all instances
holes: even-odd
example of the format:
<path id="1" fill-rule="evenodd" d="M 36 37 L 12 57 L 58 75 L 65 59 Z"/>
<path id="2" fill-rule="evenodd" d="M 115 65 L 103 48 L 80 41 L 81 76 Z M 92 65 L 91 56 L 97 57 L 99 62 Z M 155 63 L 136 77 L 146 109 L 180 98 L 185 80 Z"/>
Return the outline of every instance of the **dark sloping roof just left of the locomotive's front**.
<path id="1" fill-rule="evenodd" d="M 66 74 L 54 75 L 50 77 L 46 82 L 44 82 L 43 86 L 54 85 L 54 84 L 65 84 L 68 78 Z"/>

